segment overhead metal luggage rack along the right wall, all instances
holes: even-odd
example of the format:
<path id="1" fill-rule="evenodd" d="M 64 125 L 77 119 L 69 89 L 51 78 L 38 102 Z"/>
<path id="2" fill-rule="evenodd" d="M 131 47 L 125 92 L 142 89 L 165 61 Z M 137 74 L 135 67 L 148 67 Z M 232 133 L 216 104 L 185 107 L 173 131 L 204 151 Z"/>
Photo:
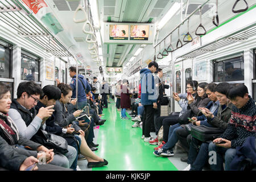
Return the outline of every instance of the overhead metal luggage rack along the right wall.
<path id="1" fill-rule="evenodd" d="M 214 53 L 220 48 L 224 48 L 237 42 L 246 42 L 249 38 L 256 35 L 256 23 L 250 24 L 238 31 L 235 31 L 229 35 L 222 36 L 213 42 L 207 43 L 204 46 L 193 49 L 184 55 L 177 58 L 193 59 L 195 57 L 204 55 L 206 53 Z"/>

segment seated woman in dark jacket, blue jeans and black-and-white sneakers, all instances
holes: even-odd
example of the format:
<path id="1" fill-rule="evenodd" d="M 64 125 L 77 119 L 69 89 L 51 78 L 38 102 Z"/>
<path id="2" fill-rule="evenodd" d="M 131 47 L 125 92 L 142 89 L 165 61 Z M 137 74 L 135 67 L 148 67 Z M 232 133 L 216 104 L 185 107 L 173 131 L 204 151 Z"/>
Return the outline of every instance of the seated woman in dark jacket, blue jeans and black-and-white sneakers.
<path id="1" fill-rule="evenodd" d="M 209 98 L 205 93 L 205 88 L 208 84 L 206 82 L 202 82 L 197 86 L 197 96 L 194 100 L 193 96 L 187 96 L 188 99 L 188 109 L 191 109 L 192 116 L 196 116 L 199 114 L 200 110 L 198 107 L 205 107 L 209 103 Z M 163 145 L 162 148 L 155 150 L 153 152 L 156 156 L 174 156 L 174 146 L 178 142 L 176 130 L 183 129 L 180 123 L 172 125 L 169 130 L 168 142 Z"/>

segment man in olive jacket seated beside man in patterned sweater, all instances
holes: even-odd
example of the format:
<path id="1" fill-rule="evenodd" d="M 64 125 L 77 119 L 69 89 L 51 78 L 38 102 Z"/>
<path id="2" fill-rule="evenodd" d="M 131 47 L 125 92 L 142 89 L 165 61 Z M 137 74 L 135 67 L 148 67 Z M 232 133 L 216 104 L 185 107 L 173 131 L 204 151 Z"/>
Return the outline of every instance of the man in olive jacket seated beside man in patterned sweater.
<path id="1" fill-rule="evenodd" d="M 207 122 L 211 126 L 218 127 L 222 130 L 225 130 L 228 126 L 232 107 L 234 106 L 227 96 L 229 86 L 230 85 L 228 83 L 222 82 L 214 88 L 214 93 L 220 102 L 220 106 L 217 110 L 217 116 L 206 108 L 202 110 L 204 116 L 207 118 Z M 199 151 L 198 146 L 200 146 Z M 200 140 L 192 137 L 187 162 L 189 165 L 184 169 L 184 171 L 201 171 L 203 169 L 205 163 L 208 161 L 208 146 L 209 142 L 201 142 Z"/>

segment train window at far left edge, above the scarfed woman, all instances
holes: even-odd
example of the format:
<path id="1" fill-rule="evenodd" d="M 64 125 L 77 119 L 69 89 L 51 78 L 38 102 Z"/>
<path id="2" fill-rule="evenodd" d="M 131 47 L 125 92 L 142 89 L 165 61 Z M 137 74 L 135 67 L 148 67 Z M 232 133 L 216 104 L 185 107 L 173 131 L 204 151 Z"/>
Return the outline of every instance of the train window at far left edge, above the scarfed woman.
<path id="1" fill-rule="evenodd" d="M 11 78 L 11 49 L 0 46 L 0 78 Z"/>

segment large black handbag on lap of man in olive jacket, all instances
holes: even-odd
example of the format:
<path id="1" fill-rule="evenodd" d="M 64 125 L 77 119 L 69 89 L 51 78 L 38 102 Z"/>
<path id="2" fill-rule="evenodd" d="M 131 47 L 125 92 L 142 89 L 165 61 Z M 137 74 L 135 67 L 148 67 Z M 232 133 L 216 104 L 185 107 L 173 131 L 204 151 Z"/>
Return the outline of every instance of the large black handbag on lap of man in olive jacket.
<path id="1" fill-rule="evenodd" d="M 191 126 L 191 135 L 192 137 L 202 141 L 207 142 L 214 140 L 218 138 L 222 133 L 224 133 L 224 130 L 218 128 L 218 127 L 208 127 L 204 125 L 200 126 Z"/>

